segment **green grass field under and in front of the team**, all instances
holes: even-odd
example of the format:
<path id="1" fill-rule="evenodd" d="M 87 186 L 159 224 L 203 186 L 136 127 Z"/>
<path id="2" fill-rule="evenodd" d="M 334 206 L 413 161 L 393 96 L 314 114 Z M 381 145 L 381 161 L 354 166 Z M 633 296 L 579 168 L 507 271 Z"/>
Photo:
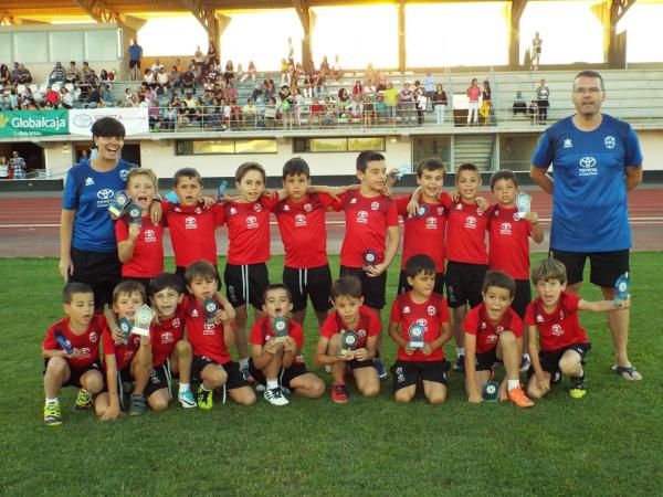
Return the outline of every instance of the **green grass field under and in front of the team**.
<path id="1" fill-rule="evenodd" d="M 281 264 L 273 258 L 273 281 Z M 337 274 L 338 260 L 332 264 Z M 66 389 L 65 423 L 48 427 L 40 350 L 61 317 L 57 262 L 2 258 L 0 495 L 661 495 L 661 253 L 633 254 L 631 272 L 630 355 L 645 380 L 627 383 L 610 371 L 606 318 L 586 314 L 593 349 L 579 401 L 565 384 L 527 411 L 471 405 L 452 372 L 449 400 L 435 408 L 422 399 L 397 405 L 388 380 L 378 399 L 351 388 L 347 405 L 326 393 L 281 409 L 262 399 L 252 408 L 217 402 L 209 412 L 177 404 L 102 423 L 73 412 L 75 391 Z M 397 281 L 394 266 L 388 300 Z M 587 285 L 583 297 L 599 292 Z M 307 319 L 313 367 L 317 331 Z M 394 347 L 385 343 L 391 363 Z"/>

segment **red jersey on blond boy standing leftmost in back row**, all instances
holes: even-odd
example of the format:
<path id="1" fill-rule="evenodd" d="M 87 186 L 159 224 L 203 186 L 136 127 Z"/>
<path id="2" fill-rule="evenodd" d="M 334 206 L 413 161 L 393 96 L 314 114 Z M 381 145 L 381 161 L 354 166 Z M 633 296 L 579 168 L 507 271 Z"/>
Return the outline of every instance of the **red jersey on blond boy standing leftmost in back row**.
<path id="1" fill-rule="evenodd" d="M 129 239 L 129 221 L 120 218 L 115 222 L 117 242 Z M 130 261 L 122 265 L 122 275 L 136 278 L 154 278 L 164 273 L 164 225 L 154 224 L 149 215 L 143 216 L 143 226 L 134 245 Z"/>

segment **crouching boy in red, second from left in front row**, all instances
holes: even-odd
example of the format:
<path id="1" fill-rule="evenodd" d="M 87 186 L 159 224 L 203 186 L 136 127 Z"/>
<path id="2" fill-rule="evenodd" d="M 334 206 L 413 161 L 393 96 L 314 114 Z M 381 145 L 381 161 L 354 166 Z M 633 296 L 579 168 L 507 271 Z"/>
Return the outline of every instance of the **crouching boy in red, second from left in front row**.
<path id="1" fill-rule="evenodd" d="M 127 279 L 113 290 L 113 311 L 117 319 L 126 318 L 133 324 L 136 310 L 146 300 L 143 284 Z M 95 402 L 97 416 L 102 421 L 115 420 L 123 406 L 123 383 L 130 383 L 134 380 L 129 414 L 144 414 L 147 410 L 144 392 L 151 369 L 149 338 L 129 335 L 126 343 L 118 343 L 114 340 L 110 329 L 106 327 L 102 340 L 107 390 L 99 393 Z"/>

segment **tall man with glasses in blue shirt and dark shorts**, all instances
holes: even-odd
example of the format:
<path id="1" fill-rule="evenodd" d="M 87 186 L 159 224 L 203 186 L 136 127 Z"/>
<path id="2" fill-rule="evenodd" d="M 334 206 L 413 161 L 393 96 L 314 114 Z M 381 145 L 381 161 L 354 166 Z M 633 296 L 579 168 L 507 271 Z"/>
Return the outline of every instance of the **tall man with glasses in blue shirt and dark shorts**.
<path id="1" fill-rule="evenodd" d="M 580 292 L 587 257 L 590 281 L 604 298 L 629 271 L 631 228 L 628 191 L 642 181 L 642 152 L 633 128 L 601 113 L 603 78 L 582 71 L 573 80 L 577 114 L 550 126 L 532 159 L 530 177 L 552 194 L 550 255 L 567 268 L 568 289 Z M 552 165 L 555 179 L 546 171 Z M 641 380 L 628 358 L 629 310 L 608 313 L 614 342 L 613 370 L 627 380 Z"/>

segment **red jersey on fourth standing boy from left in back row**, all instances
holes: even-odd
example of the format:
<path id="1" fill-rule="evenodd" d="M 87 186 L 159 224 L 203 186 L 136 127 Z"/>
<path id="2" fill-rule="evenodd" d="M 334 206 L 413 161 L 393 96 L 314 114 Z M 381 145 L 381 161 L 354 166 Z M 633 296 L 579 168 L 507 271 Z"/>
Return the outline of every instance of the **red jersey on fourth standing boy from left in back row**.
<path id="1" fill-rule="evenodd" d="M 287 267 L 308 269 L 327 264 L 325 212 L 332 204 L 337 204 L 332 197 L 314 193 L 299 202 L 286 199 L 273 209 Z"/>

